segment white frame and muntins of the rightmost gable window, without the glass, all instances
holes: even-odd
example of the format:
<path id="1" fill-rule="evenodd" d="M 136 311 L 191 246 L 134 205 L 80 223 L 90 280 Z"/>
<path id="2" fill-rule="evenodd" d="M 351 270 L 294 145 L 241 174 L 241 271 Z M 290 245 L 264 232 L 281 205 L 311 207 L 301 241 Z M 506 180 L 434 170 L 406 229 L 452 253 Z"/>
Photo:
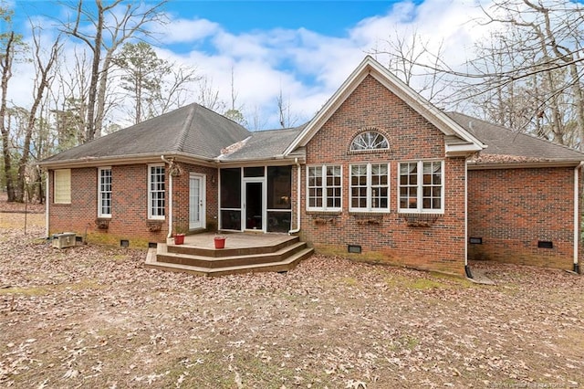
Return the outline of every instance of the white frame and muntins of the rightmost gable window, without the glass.
<path id="1" fill-rule="evenodd" d="M 417 179 L 416 185 L 416 207 L 415 208 L 402 208 L 401 207 L 401 187 L 407 184 L 401 184 L 401 165 L 404 163 L 417 163 Z M 424 163 L 440 163 L 440 184 L 424 184 L 423 183 L 423 166 Z M 404 214 L 443 214 L 444 213 L 444 203 L 445 203 L 445 191 L 444 191 L 444 161 L 443 160 L 422 160 L 422 161 L 404 161 L 398 163 L 398 212 Z M 412 185 L 410 185 L 413 187 Z M 423 207 L 423 189 L 424 187 L 440 187 L 441 202 L 440 208 L 424 208 Z"/>

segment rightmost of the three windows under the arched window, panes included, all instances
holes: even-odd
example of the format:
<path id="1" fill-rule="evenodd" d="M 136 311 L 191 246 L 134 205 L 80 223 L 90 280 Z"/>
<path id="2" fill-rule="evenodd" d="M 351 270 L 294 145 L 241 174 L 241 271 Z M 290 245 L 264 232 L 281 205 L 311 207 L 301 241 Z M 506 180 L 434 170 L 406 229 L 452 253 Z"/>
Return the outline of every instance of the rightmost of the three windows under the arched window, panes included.
<path id="1" fill-rule="evenodd" d="M 443 212 L 443 162 L 400 163 L 400 211 Z"/>

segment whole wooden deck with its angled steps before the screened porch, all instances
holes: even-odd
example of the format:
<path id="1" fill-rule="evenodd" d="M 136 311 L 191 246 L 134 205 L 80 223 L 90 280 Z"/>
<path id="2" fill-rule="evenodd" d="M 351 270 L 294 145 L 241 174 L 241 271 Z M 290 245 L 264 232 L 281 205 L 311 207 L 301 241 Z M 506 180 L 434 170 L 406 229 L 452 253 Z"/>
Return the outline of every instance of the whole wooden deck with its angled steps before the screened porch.
<path id="1" fill-rule="evenodd" d="M 184 237 L 183 245 L 173 239 L 151 248 L 147 268 L 182 271 L 200 276 L 287 271 L 312 255 L 313 249 L 298 237 L 284 234 L 232 233 L 223 235 L 224 248 L 214 247 L 215 234 Z"/>

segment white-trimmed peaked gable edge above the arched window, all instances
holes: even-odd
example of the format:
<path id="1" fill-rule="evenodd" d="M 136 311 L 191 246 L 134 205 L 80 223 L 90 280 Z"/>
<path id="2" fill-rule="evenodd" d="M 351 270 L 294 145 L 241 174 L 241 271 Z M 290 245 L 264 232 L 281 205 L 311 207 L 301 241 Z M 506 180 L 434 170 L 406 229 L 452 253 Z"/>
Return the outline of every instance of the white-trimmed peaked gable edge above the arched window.
<path id="1" fill-rule="evenodd" d="M 382 67 L 375 59 L 367 56 L 350 74 L 349 78 L 343 82 L 324 107 L 318 111 L 314 119 L 308 122 L 308 125 L 298 135 L 297 139 L 287 147 L 285 154 L 294 152 L 299 146 L 306 146 L 322 125 L 328 121 L 368 75 L 381 82 L 385 88 L 405 101 L 413 110 L 417 111 L 424 119 L 430 121 L 446 135 L 445 154 L 447 156 L 468 155 L 472 152 L 481 151 L 486 147 L 472 133 L 464 130 L 457 122 L 445 115 L 442 110 L 438 110 L 430 101 L 423 99 L 422 96 L 407 86 L 401 79 L 394 76 L 387 68 Z"/>

